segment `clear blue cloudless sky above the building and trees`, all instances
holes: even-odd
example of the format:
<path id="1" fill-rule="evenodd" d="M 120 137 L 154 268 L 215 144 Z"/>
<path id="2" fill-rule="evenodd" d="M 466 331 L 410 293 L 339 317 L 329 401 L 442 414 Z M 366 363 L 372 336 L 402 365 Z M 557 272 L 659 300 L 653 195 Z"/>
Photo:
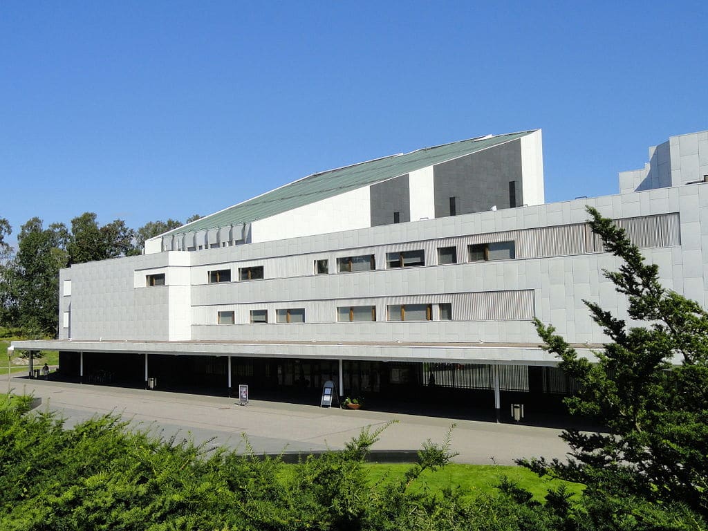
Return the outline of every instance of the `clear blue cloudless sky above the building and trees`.
<path id="1" fill-rule="evenodd" d="M 708 2 L 0 3 L 0 217 L 130 227 L 543 129 L 547 201 L 708 129 Z"/>

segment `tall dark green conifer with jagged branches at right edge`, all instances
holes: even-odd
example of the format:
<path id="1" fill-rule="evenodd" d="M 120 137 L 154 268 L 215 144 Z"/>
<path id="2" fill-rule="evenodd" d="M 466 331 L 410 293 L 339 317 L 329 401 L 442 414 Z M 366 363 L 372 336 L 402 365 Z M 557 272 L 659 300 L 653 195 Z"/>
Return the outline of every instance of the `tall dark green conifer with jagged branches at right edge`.
<path id="1" fill-rule="evenodd" d="M 569 462 L 524 464 L 586 484 L 594 528 L 649 528 L 642 526 L 660 521 L 660 527 L 688 528 L 708 516 L 708 314 L 666 290 L 658 266 L 646 263 L 624 230 L 597 210 L 588 212 L 605 249 L 622 260 L 619 270 L 604 275 L 626 295 L 632 321 L 584 301 L 608 339 L 595 353 L 597 363 L 578 356 L 553 326 L 535 325 L 544 348 L 578 382 L 579 392 L 566 399 L 571 413 L 593 416 L 607 433 L 568 430 Z"/>

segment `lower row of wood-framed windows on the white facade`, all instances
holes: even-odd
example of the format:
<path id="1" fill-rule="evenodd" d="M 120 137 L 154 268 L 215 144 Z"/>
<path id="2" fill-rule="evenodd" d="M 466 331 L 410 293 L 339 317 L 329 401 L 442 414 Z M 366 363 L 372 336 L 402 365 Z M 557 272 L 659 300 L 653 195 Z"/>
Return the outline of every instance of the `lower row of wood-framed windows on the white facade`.
<path id="1" fill-rule="evenodd" d="M 386 307 L 387 321 L 432 321 L 433 304 L 389 304 Z M 452 321 L 452 304 L 438 304 L 438 319 Z M 376 321 L 375 306 L 343 306 L 337 308 L 338 322 Z M 255 309 L 249 312 L 251 324 L 267 324 L 268 310 Z M 304 323 L 304 308 L 287 308 L 275 310 L 276 323 Z M 217 312 L 217 324 L 234 324 L 235 312 L 228 310 Z"/>

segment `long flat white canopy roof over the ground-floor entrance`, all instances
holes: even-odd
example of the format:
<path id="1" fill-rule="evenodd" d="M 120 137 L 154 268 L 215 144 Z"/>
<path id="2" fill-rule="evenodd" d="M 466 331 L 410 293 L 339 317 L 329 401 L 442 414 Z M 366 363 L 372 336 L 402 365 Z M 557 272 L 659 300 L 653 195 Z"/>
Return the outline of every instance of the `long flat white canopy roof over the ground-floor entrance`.
<path id="1" fill-rule="evenodd" d="M 86 353 L 236 356 L 241 358 L 298 358 L 362 361 L 498 363 L 501 365 L 558 365 L 556 355 L 533 343 L 405 343 L 355 341 L 13 341 L 23 350 L 65 350 Z M 578 354 L 597 361 L 593 349 L 574 346 Z"/>

